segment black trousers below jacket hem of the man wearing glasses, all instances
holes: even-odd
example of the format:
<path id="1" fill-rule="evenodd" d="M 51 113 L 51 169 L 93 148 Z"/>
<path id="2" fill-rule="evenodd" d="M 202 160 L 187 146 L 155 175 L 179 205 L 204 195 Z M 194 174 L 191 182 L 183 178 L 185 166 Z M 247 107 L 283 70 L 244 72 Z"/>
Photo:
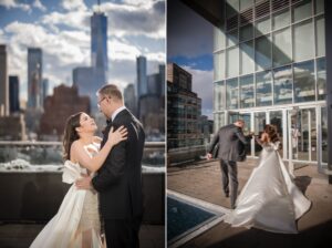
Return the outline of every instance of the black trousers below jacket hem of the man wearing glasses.
<path id="1" fill-rule="evenodd" d="M 105 219 L 105 236 L 107 247 L 139 248 L 139 227 L 142 217 L 132 219 Z"/>

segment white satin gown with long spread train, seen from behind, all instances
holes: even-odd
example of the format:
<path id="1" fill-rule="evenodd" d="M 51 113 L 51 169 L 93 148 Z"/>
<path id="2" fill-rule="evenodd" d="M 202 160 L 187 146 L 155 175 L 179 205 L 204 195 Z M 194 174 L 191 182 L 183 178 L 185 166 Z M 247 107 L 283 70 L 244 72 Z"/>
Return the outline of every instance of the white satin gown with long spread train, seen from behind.
<path id="1" fill-rule="evenodd" d="M 311 202 L 292 182 L 279 153 L 279 142 L 263 145 L 259 165 L 250 175 L 236 204 L 225 216 L 234 227 L 297 234 L 295 220 L 307 213 Z"/>

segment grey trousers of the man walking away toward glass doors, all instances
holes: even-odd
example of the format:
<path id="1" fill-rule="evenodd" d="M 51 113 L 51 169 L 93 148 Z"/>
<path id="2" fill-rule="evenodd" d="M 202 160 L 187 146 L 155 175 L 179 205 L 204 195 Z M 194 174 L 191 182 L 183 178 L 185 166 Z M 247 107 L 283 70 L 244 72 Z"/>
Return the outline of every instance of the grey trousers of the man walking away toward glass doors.
<path id="1" fill-rule="evenodd" d="M 231 184 L 230 192 L 230 206 L 231 208 L 236 207 L 236 200 L 238 197 L 238 166 L 234 161 L 224 161 L 220 159 L 220 169 L 222 174 L 222 189 L 225 194 L 229 194 L 229 178 Z"/>

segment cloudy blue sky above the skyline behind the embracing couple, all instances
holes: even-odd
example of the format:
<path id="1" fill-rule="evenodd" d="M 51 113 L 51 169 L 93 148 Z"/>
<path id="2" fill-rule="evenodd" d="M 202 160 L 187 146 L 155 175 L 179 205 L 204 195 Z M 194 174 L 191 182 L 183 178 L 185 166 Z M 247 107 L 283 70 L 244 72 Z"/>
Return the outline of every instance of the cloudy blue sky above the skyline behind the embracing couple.
<path id="1" fill-rule="evenodd" d="M 124 89 L 136 83 L 136 56 L 147 73 L 166 60 L 165 0 L 101 1 L 107 16 L 108 81 Z M 27 100 L 28 48 L 41 48 L 49 94 L 72 85 L 72 70 L 91 65 L 90 18 L 97 0 L 0 0 L 0 44 L 7 44 L 9 75 L 19 75 Z"/>

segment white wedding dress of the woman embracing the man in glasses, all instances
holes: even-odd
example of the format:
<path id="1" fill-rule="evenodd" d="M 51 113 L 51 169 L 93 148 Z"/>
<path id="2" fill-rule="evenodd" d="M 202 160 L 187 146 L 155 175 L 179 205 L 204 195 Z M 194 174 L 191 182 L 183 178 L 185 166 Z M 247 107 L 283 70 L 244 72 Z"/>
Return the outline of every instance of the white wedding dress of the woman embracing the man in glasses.
<path id="1" fill-rule="evenodd" d="M 97 144 L 84 146 L 90 156 L 97 151 Z M 58 214 L 48 223 L 31 244 L 31 248 L 79 248 L 83 235 L 91 238 L 91 248 L 101 248 L 101 223 L 98 199 L 94 190 L 79 190 L 74 183 L 87 170 L 70 161 L 64 163 L 62 182 L 72 184 Z"/>

